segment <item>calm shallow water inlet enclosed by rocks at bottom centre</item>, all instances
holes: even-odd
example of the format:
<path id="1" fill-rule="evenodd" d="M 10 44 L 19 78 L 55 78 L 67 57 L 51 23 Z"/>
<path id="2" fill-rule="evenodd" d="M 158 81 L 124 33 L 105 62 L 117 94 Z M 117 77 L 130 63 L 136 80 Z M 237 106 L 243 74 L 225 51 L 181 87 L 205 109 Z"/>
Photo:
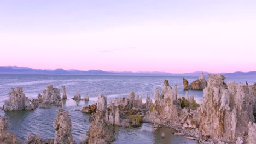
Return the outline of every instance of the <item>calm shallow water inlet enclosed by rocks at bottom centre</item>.
<path id="1" fill-rule="evenodd" d="M 114 126 L 109 129 L 114 131 L 116 140 L 113 143 L 197 143 L 195 140 L 173 135 L 175 130 L 172 128 L 161 127 L 153 131 L 151 123 L 142 123 L 142 127 L 138 128 Z M 162 137 L 161 133 L 164 133 L 165 136 Z"/>

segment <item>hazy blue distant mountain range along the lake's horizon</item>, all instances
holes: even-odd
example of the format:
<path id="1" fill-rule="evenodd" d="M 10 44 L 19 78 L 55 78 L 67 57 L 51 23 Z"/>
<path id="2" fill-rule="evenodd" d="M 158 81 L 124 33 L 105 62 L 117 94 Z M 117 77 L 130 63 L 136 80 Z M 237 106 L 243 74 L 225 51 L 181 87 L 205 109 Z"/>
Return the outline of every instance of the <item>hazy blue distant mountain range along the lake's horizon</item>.
<path id="1" fill-rule="evenodd" d="M 78 74 L 78 75 L 170 75 L 170 76 L 199 76 L 202 72 L 195 71 L 193 73 L 183 73 L 183 74 L 173 74 L 173 73 L 166 73 L 166 72 L 131 72 L 131 71 L 123 71 L 123 72 L 116 72 L 116 71 L 102 71 L 102 70 L 64 70 L 64 69 L 55 69 L 55 70 L 48 70 L 48 69 L 32 69 L 28 67 L 16 67 L 16 66 L 2 66 L 0 67 L 0 74 Z M 203 72 L 206 76 L 209 74 L 208 72 Z M 250 72 L 240 72 L 237 71 L 235 73 L 220 73 L 226 76 L 232 75 L 255 75 L 256 71 Z"/>

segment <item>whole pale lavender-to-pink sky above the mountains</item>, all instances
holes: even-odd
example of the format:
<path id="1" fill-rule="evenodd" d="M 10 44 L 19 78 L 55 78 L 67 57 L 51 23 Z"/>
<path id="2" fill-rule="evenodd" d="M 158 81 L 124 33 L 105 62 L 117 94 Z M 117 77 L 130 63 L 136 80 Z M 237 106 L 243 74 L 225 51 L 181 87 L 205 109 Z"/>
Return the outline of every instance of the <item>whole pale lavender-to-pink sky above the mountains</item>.
<path id="1" fill-rule="evenodd" d="M 0 0 L 0 65 L 256 71 L 256 1 Z"/>

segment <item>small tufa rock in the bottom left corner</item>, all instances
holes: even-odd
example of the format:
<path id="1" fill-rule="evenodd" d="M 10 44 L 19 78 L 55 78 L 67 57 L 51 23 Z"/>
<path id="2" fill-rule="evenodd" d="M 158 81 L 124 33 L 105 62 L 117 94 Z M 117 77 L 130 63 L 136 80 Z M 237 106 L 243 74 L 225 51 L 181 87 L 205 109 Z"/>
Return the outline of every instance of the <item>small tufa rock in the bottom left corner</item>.
<path id="1" fill-rule="evenodd" d="M 3 116 L 0 116 L 0 143 L 22 143 L 14 133 L 9 131 L 9 119 Z"/>

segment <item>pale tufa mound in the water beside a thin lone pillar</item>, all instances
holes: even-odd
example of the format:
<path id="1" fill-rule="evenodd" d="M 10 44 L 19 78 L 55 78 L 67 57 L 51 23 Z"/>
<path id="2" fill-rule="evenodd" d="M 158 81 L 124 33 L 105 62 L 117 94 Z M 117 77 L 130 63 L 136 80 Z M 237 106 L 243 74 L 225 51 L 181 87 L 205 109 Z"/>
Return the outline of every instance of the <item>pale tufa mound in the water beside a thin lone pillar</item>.
<path id="1" fill-rule="evenodd" d="M 61 100 L 60 89 L 53 88 L 53 85 L 47 85 L 46 89 L 44 89 L 43 91 L 42 104 L 61 106 L 62 100 Z"/>

